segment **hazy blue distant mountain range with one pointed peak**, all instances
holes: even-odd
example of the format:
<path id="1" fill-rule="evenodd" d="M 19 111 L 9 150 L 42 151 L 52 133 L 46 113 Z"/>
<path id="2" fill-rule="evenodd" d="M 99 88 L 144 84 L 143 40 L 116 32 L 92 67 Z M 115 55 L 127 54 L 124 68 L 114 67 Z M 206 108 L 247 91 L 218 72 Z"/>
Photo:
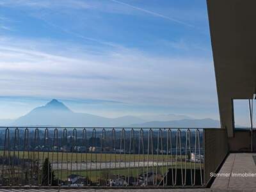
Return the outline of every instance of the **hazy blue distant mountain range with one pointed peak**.
<path id="1" fill-rule="evenodd" d="M 156 121 L 156 118 L 158 121 Z M 150 121 L 151 119 L 151 121 Z M 159 120 L 160 119 L 160 120 Z M 163 121 L 161 121 L 163 120 Z M 167 121 L 165 121 L 167 120 Z M 33 109 L 16 120 L 0 120 L 1 126 L 45 127 L 220 127 L 218 120 L 211 118 L 192 119 L 182 115 L 121 116 L 106 118 L 87 113 L 75 113 L 56 99 Z"/>

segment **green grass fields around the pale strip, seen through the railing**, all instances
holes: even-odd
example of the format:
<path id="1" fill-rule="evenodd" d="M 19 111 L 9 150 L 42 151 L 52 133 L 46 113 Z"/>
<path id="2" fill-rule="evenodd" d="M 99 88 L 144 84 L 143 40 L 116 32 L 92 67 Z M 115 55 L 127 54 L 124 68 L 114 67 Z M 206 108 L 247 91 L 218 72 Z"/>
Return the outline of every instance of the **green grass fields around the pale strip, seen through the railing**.
<path id="1" fill-rule="evenodd" d="M 4 152 L 0 151 L 0 156 L 3 157 Z M 119 159 L 121 161 L 143 161 L 143 159 L 145 159 L 145 167 L 140 167 L 138 169 L 138 167 L 131 167 L 129 168 L 127 166 L 127 168 L 113 168 L 113 169 L 104 169 L 104 170 L 79 170 L 80 166 L 78 165 L 78 170 L 72 170 L 72 172 L 70 172 L 70 170 L 54 170 L 54 173 L 56 175 L 56 178 L 61 179 L 61 180 L 67 180 L 68 175 L 70 175 L 71 173 L 74 174 L 79 174 L 81 176 L 84 177 L 88 177 L 90 180 L 92 180 L 92 182 L 97 182 L 99 181 L 99 179 L 108 179 L 109 175 L 126 175 L 126 176 L 132 176 L 132 177 L 138 177 L 138 175 L 140 175 L 141 173 L 145 173 L 147 172 L 147 161 L 152 161 L 154 159 L 154 161 L 157 161 L 157 155 L 149 155 L 147 156 L 147 154 L 143 155 L 138 155 L 138 154 L 92 154 L 92 153 L 62 153 L 62 152 L 31 152 L 31 151 L 27 151 L 27 152 L 10 152 L 10 154 L 5 153 L 4 155 L 5 157 L 8 156 L 16 156 L 19 157 L 20 159 L 40 159 L 40 162 L 44 161 L 45 158 L 49 157 L 50 162 L 51 163 L 66 163 L 66 162 L 73 162 L 74 164 L 77 163 L 83 163 L 83 162 L 115 162 L 116 159 L 116 163 L 119 162 Z M 178 159 L 177 164 L 175 162 L 175 157 L 176 156 L 166 156 L 166 155 L 159 155 L 158 156 L 158 162 L 161 163 L 162 159 L 163 162 L 165 163 L 166 161 L 168 161 L 168 168 L 190 168 L 190 166 L 192 165 L 192 168 L 194 168 L 194 166 L 196 166 L 196 169 L 200 168 L 200 163 L 190 163 L 188 162 L 187 164 L 184 162 L 184 160 L 182 160 L 182 163 L 180 162 L 180 159 Z M 178 156 L 179 158 L 180 156 Z M 185 158 L 185 156 L 182 156 L 182 158 Z M 150 171 L 152 171 L 152 166 L 148 167 Z M 201 163 L 201 168 L 203 169 L 203 163 Z M 154 166 L 154 172 L 156 172 L 156 169 L 158 173 L 166 173 L 166 165 L 159 165 L 158 168 L 156 168 L 156 166 Z"/>

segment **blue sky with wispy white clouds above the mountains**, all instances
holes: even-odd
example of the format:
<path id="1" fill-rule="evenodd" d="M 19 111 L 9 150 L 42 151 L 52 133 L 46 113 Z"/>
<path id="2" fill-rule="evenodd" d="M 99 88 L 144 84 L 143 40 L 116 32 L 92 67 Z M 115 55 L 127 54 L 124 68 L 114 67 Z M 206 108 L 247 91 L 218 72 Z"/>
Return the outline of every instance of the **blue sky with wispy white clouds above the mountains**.
<path id="1" fill-rule="evenodd" d="M 0 116 L 59 99 L 102 116 L 218 119 L 204 0 L 0 0 Z"/>

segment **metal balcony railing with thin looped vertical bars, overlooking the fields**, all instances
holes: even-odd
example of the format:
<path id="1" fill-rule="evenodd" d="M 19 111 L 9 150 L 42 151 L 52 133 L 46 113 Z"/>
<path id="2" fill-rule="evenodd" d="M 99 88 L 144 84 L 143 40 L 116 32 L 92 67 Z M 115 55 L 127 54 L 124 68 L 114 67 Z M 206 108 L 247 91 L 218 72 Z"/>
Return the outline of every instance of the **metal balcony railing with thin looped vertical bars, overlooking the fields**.
<path id="1" fill-rule="evenodd" d="M 0 188 L 204 186 L 203 129 L 0 129 Z"/>

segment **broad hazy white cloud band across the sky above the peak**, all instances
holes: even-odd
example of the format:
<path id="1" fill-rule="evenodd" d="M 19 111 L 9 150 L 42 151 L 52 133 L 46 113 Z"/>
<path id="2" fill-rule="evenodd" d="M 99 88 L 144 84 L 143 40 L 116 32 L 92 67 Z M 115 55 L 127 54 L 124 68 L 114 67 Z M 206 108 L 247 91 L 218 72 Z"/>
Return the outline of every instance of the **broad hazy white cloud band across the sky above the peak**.
<path id="1" fill-rule="evenodd" d="M 121 46 L 77 54 L 70 51 L 79 49 L 74 44 L 2 39 L 1 95 L 176 107 L 216 104 L 211 61 L 159 57 Z M 58 52 L 52 44 L 63 50 Z"/>

